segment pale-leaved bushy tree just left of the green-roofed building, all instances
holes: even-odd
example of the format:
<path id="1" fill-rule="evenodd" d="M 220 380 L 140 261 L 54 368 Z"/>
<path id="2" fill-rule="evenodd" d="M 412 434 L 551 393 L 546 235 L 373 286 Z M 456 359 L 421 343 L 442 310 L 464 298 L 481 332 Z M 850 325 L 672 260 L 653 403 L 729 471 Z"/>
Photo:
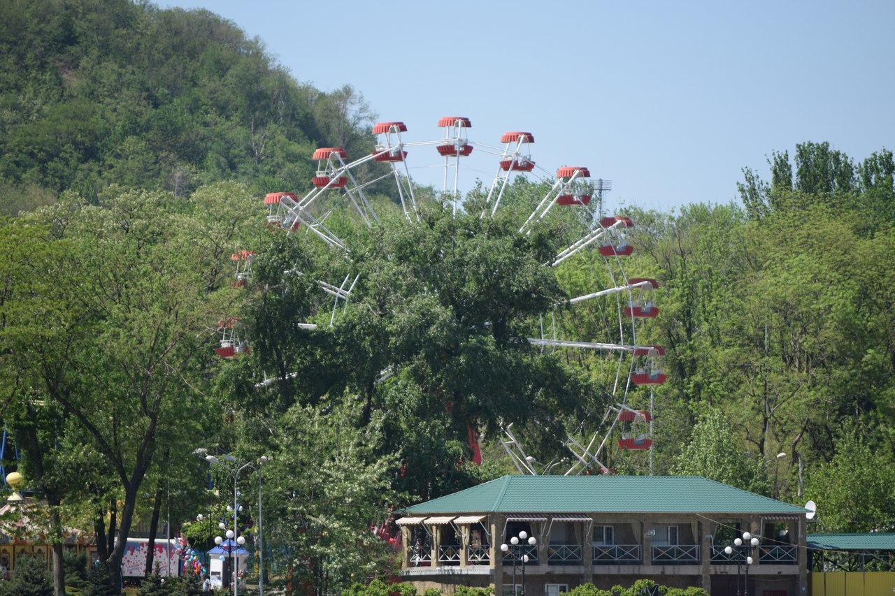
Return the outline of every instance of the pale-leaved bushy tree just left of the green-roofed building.
<path id="1" fill-rule="evenodd" d="M 265 536 L 294 582 L 316 594 L 342 592 L 352 578 L 392 565 L 388 545 L 371 524 L 394 502 L 391 456 L 379 456 L 379 416 L 358 428 L 356 400 L 345 396 L 323 414 L 293 406 L 277 424 L 276 456 L 265 466 Z"/>

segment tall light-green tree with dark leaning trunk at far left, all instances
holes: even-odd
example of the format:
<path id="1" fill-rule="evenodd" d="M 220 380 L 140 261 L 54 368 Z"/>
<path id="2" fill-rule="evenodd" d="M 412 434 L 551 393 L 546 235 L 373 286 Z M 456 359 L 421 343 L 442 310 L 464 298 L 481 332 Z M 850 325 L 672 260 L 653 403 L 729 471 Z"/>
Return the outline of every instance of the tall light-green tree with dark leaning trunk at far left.
<path id="1" fill-rule="evenodd" d="M 56 284 L 42 294 L 17 294 L 23 308 L 7 319 L 6 338 L 32 391 L 61 409 L 72 439 L 95 447 L 115 478 L 108 533 L 98 533 L 100 545 L 110 545 L 108 563 L 118 569 L 158 441 L 168 441 L 168 449 L 179 445 L 181 458 L 199 442 L 200 427 L 182 421 L 200 421 L 207 410 L 201 387 L 210 348 L 203 341 L 234 291 L 223 276 L 209 284 L 216 256 L 177 234 L 159 196 L 130 193 L 104 208 L 66 209 L 60 205 L 46 216 L 57 222 L 55 242 L 68 250 L 23 268 L 40 268 Z M 42 319 L 40 335 L 27 336 L 29 309 L 44 304 L 61 306 L 55 318 Z M 104 518 L 100 511 L 98 527 Z M 112 535 L 114 548 L 106 541 Z"/>

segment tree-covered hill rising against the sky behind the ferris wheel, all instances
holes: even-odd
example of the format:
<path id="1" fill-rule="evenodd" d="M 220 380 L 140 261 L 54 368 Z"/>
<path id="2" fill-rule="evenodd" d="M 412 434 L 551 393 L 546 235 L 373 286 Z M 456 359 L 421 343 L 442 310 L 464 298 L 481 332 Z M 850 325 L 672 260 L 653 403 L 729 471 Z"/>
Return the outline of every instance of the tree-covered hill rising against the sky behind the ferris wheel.
<path id="1" fill-rule="evenodd" d="M 295 81 L 234 23 L 130 0 L 0 3 L 0 213 L 115 183 L 301 189 L 322 142 L 364 142 L 351 88 Z"/>

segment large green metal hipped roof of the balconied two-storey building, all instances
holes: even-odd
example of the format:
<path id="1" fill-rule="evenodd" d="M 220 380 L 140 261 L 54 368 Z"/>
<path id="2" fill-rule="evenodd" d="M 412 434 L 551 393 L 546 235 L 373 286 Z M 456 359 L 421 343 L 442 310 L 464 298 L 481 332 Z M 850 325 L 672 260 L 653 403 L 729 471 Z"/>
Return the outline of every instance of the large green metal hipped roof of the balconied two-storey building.
<path id="1" fill-rule="evenodd" d="M 406 515 L 463 513 L 805 514 L 701 476 L 504 476 L 406 507 Z"/>

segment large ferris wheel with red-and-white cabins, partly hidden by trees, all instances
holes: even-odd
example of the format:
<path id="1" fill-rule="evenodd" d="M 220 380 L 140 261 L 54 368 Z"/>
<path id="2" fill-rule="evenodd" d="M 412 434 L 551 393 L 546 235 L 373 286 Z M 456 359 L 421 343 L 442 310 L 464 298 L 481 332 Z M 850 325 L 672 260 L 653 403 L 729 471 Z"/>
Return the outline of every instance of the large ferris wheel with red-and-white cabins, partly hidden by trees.
<path id="1" fill-rule="evenodd" d="M 268 193 L 264 199 L 268 225 L 285 229 L 287 234 L 317 237 L 333 249 L 350 254 L 350 242 L 328 226 L 328 217 L 336 209 L 347 209 L 359 225 L 379 226 L 381 220 L 368 193 L 373 188 L 379 193 L 386 188 L 391 199 L 400 205 L 405 225 L 413 226 L 420 219 L 420 186 L 413 182 L 413 172 L 419 168 L 439 168 L 440 197 L 455 216 L 458 209 L 463 209 L 461 180 L 468 175 L 465 162 L 473 154 L 485 156 L 495 172 L 490 184 L 482 184 L 487 195 L 481 217 L 498 215 L 514 176 L 534 178 L 541 183 L 543 194 L 533 202 L 518 231 L 531 234 L 550 217 L 566 217 L 575 222 L 575 226 L 565 228 L 567 241 L 544 263 L 544 267 L 555 269 L 558 277 L 567 279 L 566 285 L 574 294 L 555 304 L 554 311 L 537 322 L 537 335 L 527 341 L 541 350 L 565 353 L 567 358 L 586 359 L 594 367 L 594 382 L 600 383 L 608 396 L 608 406 L 601 413 L 594 413 L 594 420 L 583 421 L 565 438 L 564 445 L 573 455 L 565 473 L 589 473 L 593 469 L 609 473 L 610 468 L 602 464 L 601 458 L 610 447 L 652 449 L 652 387 L 665 382 L 661 371 L 664 351 L 657 345 L 639 344 L 637 329 L 642 321 L 658 314 L 653 294 L 659 285 L 652 278 L 627 275 L 625 261 L 634 252 L 629 242 L 634 222 L 628 217 L 603 215 L 603 196 L 611 189 L 611 183 L 592 181 L 585 166 L 561 166 L 552 171 L 537 166 L 531 155 L 532 132 L 505 132 L 500 145 L 491 146 L 469 138 L 472 123 L 467 117 L 441 117 L 438 128 L 439 138 L 405 140 L 405 123 L 376 123 L 371 131 L 376 135 L 376 145 L 369 154 L 349 157 L 342 148 L 316 149 L 312 158 L 317 168 L 311 178 L 311 190 L 302 196 L 294 192 Z M 473 169 L 480 181 L 482 171 Z M 587 272 L 584 276 L 583 269 Z M 351 300 L 357 281 L 357 277 L 345 277 L 341 284 L 317 282 L 320 290 L 334 301 L 330 324 L 340 303 Z M 312 323 L 301 325 L 316 327 Z M 583 358 L 583 353 L 588 355 Z M 383 371 L 379 380 L 390 374 L 389 370 Z M 636 387 L 651 389 L 649 405 L 632 407 L 628 397 Z M 595 419 L 600 416 L 598 423 Z M 519 472 L 543 473 L 542 467 L 538 469 L 533 464 L 532 457 L 525 456 L 508 428 L 505 432 L 504 447 Z M 472 427 L 469 433 L 475 451 Z"/>

